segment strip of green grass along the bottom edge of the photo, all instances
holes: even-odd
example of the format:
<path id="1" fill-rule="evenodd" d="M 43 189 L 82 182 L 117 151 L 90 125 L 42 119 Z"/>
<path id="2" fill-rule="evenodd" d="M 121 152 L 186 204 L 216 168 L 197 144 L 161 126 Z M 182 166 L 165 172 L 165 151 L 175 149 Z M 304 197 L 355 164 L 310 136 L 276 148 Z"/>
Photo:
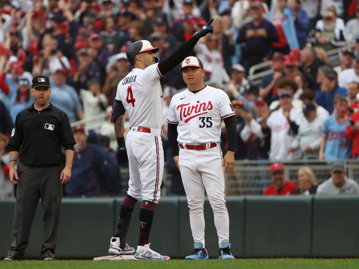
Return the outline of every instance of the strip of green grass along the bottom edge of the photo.
<path id="1" fill-rule="evenodd" d="M 147 263 L 145 266 L 143 263 Z M 23 260 L 0 261 L 1 269 L 357 269 L 359 259 L 236 259 L 208 261 L 93 261 L 93 260 Z"/>

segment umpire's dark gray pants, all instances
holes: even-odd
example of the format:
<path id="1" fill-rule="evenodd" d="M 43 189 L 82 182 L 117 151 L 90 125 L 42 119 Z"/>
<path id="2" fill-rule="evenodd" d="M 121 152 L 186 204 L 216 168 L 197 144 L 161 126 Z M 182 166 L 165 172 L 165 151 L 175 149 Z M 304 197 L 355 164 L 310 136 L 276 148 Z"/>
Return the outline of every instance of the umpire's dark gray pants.
<path id="1" fill-rule="evenodd" d="M 23 258 L 29 244 L 31 224 L 40 198 L 45 210 L 41 258 L 55 255 L 62 199 L 61 171 L 61 165 L 34 167 L 22 164 L 18 169 L 19 183 L 16 191 L 13 243 L 8 256 Z"/>

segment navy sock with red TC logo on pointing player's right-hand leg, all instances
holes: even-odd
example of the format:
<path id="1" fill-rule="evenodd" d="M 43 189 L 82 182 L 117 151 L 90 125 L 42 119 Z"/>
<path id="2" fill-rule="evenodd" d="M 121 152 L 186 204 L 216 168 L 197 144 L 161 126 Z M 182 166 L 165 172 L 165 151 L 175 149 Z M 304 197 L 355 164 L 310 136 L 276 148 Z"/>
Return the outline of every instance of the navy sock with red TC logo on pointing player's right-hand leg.
<path id="1" fill-rule="evenodd" d="M 140 207 L 140 233 L 137 246 L 144 246 L 149 243 L 150 230 L 156 204 L 143 200 Z"/>

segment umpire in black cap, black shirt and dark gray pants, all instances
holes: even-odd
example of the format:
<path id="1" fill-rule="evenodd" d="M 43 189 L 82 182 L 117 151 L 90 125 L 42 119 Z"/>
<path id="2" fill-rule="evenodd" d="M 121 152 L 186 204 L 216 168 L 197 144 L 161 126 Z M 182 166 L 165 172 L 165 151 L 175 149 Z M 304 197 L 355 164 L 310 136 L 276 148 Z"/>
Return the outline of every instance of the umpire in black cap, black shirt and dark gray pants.
<path id="1" fill-rule="evenodd" d="M 41 198 L 44 241 L 41 258 L 53 260 L 59 230 L 62 185 L 71 178 L 75 139 L 69 118 L 49 103 L 47 76 L 36 76 L 30 89 L 34 104 L 16 117 L 9 140 L 10 180 L 18 184 L 13 243 L 4 260 L 20 260 L 28 246 L 31 223 Z M 65 155 L 61 146 L 65 148 Z M 20 168 L 15 170 L 19 159 Z"/>

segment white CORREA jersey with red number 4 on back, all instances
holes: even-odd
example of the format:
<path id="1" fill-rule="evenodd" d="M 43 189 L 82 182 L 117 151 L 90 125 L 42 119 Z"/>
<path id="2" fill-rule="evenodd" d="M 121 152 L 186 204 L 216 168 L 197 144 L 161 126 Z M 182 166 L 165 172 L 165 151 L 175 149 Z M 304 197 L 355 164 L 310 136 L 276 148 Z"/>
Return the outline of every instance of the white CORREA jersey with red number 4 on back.
<path id="1" fill-rule="evenodd" d="M 163 96 L 158 63 L 142 70 L 134 68 L 117 86 L 116 99 L 129 114 L 130 126 L 162 128 Z"/>

